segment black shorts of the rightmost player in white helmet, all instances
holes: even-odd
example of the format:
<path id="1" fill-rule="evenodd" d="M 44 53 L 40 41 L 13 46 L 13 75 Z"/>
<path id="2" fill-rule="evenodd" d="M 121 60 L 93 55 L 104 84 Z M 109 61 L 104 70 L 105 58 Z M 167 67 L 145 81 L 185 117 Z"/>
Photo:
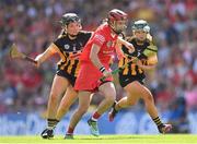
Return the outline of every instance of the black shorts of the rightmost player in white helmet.
<path id="1" fill-rule="evenodd" d="M 127 86 L 128 84 L 132 83 L 134 81 L 138 81 L 140 84 L 144 84 L 143 80 L 144 80 L 144 75 L 140 74 L 140 75 L 121 75 L 119 74 L 119 84 L 121 85 L 121 87 Z"/>

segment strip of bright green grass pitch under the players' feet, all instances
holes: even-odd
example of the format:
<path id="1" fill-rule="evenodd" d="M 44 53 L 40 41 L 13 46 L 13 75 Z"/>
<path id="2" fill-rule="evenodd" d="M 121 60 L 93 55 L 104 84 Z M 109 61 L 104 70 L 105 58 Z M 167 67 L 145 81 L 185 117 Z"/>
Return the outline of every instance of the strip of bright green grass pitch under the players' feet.
<path id="1" fill-rule="evenodd" d="M 63 140 L 55 136 L 53 140 L 43 140 L 39 136 L 0 136 L 0 144 L 197 144 L 197 135 L 167 134 L 167 135 L 77 135 L 74 140 Z"/>

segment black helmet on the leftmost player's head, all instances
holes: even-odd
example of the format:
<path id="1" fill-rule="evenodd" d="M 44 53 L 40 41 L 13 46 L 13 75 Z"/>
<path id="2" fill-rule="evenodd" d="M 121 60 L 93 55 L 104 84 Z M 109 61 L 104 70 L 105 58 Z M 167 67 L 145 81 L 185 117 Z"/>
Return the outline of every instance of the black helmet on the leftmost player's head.
<path id="1" fill-rule="evenodd" d="M 76 13 L 66 13 L 62 15 L 60 23 L 65 26 L 73 22 L 81 23 L 80 17 Z"/>

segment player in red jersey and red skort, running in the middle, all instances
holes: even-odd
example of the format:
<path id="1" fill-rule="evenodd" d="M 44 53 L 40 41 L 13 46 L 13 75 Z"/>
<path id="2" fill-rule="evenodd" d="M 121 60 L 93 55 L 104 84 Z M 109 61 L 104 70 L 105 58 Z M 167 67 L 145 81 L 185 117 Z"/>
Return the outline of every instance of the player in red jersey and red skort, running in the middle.
<path id="1" fill-rule="evenodd" d="M 116 98 L 115 86 L 112 83 L 109 61 L 115 51 L 116 43 L 125 45 L 134 51 L 132 45 L 123 40 L 118 35 L 126 28 L 127 14 L 120 10 L 109 11 L 107 23 L 102 24 L 94 32 L 81 55 L 81 69 L 76 81 L 74 89 L 79 92 L 79 107 L 73 113 L 66 134 L 66 139 L 72 137 L 73 130 L 86 112 L 91 94 L 100 91 L 104 95 L 93 116 L 88 120 L 91 133 L 99 136 L 97 119 L 112 107 Z M 104 82 L 99 82 L 101 76 L 107 76 Z"/>

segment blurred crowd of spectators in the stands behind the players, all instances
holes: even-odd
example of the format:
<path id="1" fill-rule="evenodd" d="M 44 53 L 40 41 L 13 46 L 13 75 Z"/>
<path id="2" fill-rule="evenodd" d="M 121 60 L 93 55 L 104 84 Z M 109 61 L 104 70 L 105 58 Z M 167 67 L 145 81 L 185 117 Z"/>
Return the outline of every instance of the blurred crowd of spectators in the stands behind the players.
<path id="1" fill-rule="evenodd" d="M 157 70 L 147 73 L 147 86 L 171 120 L 197 111 L 197 1 L 196 0 L 3 0 L 0 1 L 0 113 L 46 109 L 58 57 L 36 69 L 11 60 L 9 47 L 35 58 L 60 33 L 58 21 L 67 12 L 82 19 L 83 29 L 94 31 L 111 9 L 128 13 L 131 24 L 143 19 L 159 47 Z M 117 61 L 116 61 L 117 62 Z M 116 65 L 115 62 L 115 65 Z M 114 67 L 115 67 L 114 65 Z M 125 95 L 115 77 L 117 98 Z M 100 98 L 93 99 L 93 105 Z M 184 120 L 183 120 L 184 121 Z"/>

